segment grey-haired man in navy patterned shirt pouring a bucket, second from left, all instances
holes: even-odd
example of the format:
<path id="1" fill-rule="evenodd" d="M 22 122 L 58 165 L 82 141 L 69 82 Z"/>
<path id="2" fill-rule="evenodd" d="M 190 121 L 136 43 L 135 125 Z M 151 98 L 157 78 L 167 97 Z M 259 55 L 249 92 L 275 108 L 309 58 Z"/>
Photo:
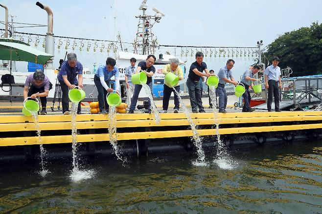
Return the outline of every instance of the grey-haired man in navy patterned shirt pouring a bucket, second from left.
<path id="1" fill-rule="evenodd" d="M 78 75 L 78 80 L 76 76 Z M 63 114 L 69 114 L 69 89 L 78 86 L 83 88 L 83 65 L 77 61 L 77 56 L 74 53 L 67 54 L 67 61 L 65 61 L 58 73 L 58 81 L 62 88 L 62 106 Z M 77 114 L 81 113 L 80 102 L 78 103 Z"/>

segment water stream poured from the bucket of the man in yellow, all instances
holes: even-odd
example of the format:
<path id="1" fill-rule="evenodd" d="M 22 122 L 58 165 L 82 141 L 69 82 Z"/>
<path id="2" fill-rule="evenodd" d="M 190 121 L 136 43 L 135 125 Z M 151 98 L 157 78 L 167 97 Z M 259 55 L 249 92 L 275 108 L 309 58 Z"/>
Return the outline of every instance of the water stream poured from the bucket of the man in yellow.
<path id="1" fill-rule="evenodd" d="M 184 102 L 181 99 L 180 94 L 177 92 L 177 90 L 174 87 L 172 87 L 172 88 L 173 88 L 173 91 L 178 95 L 180 105 L 181 105 L 182 109 L 184 110 L 184 114 L 185 114 L 186 118 L 188 119 L 188 122 L 190 124 L 191 130 L 192 130 L 192 133 L 193 133 L 192 138 L 194 140 L 194 144 L 197 147 L 198 159 L 193 163 L 193 165 L 195 165 L 195 166 L 206 166 L 207 163 L 205 162 L 205 152 L 204 152 L 204 150 L 202 148 L 202 140 L 201 140 L 201 138 L 199 136 L 199 133 L 198 133 L 197 128 L 196 128 L 196 125 L 193 123 L 193 120 L 192 120 L 192 118 L 190 116 L 189 110 L 184 105 Z"/>

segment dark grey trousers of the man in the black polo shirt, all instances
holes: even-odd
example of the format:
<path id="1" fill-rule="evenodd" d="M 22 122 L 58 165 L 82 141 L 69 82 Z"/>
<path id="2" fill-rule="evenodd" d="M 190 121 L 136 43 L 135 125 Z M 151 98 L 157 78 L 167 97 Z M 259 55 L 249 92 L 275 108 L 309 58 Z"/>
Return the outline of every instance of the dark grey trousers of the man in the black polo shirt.
<path id="1" fill-rule="evenodd" d="M 197 107 L 199 107 L 199 111 L 204 110 L 203 102 L 201 100 L 202 92 L 200 87 L 200 81 L 196 82 L 188 78 L 187 86 L 189 90 L 189 98 L 192 111 L 197 111 Z"/>

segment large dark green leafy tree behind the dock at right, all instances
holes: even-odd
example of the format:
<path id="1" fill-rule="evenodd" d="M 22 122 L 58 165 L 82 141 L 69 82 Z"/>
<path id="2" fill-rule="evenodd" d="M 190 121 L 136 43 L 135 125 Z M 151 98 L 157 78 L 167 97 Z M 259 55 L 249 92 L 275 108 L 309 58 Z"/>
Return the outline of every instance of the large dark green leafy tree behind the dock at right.
<path id="1" fill-rule="evenodd" d="M 292 76 L 322 74 L 322 24 L 313 22 L 279 36 L 264 54 L 269 60 L 280 57 L 278 66 L 291 67 Z"/>

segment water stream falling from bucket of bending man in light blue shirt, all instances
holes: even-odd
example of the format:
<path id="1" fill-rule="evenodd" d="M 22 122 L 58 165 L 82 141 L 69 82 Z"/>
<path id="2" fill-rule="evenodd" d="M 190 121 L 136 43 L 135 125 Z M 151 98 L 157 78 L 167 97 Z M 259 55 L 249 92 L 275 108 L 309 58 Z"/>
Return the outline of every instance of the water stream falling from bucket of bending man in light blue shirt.
<path id="1" fill-rule="evenodd" d="M 116 133 L 116 107 L 109 107 L 109 135 L 110 143 L 113 146 L 115 155 L 117 159 L 121 160 L 123 163 L 126 162 L 126 158 L 122 157 L 121 148 L 117 146 L 117 133 Z"/>

